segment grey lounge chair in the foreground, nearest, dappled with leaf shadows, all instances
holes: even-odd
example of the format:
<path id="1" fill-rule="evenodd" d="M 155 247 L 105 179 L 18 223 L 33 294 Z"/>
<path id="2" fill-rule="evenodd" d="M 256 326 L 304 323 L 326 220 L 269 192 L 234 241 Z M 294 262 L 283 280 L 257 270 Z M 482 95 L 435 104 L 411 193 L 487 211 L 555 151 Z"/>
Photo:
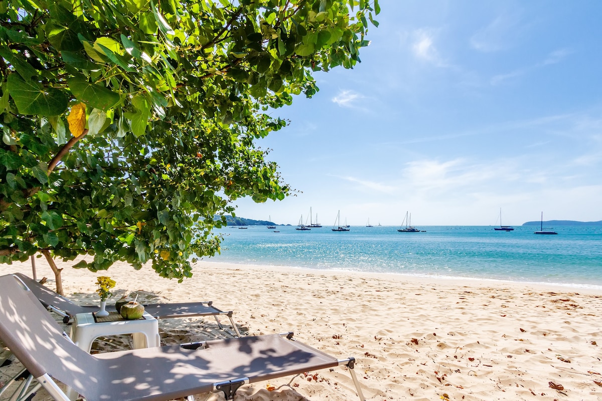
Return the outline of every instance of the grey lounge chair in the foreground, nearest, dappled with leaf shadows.
<path id="1" fill-rule="evenodd" d="M 161 401 L 208 391 L 223 391 L 230 400 L 243 384 L 339 365 L 350 368 L 365 401 L 353 358 L 337 360 L 294 341 L 292 333 L 87 354 L 16 275 L 0 277 L 0 340 L 60 401 L 69 398 L 54 379 L 88 401 Z M 25 383 L 29 386 L 31 377 Z M 21 399 L 30 396 L 26 390 L 17 393 Z"/>

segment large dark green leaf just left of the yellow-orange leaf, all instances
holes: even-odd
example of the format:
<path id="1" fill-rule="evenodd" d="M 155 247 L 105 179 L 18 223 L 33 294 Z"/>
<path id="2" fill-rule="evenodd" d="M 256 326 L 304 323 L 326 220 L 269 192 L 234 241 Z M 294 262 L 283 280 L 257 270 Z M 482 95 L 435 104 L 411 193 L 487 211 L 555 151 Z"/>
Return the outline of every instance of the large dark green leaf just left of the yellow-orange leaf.
<path id="1" fill-rule="evenodd" d="M 7 90 L 22 114 L 61 115 L 67 109 L 67 95 L 56 88 L 44 88 L 35 81 L 23 81 L 11 74 L 7 79 Z"/>

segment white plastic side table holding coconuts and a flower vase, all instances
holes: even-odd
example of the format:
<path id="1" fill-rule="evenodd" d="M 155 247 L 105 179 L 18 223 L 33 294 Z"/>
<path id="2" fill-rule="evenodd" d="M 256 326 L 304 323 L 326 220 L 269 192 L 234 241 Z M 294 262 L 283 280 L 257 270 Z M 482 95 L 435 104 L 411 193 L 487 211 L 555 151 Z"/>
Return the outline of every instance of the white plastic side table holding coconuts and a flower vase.
<path id="1" fill-rule="evenodd" d="M 134 348 L 161 346 L 159 322 L 144 312 L 144 319 L 96 322 L 92 313 L 78 313 L 71 326 L 71 340 L 80 349 L 90 352 L 92 343 L 105 335 L 132 334 Z"/>

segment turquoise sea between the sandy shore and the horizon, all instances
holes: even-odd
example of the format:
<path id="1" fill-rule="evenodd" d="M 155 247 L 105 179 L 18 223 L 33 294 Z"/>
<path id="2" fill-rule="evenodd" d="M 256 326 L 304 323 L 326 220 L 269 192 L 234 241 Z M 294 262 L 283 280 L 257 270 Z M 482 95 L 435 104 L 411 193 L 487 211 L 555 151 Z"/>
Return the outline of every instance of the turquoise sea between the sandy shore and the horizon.
<path id="1" fill-rule="evenodd" d="M 602 290 L 602 227 L 562 226 L 537 235 L 536 226 L 393 226 L 296 230 L 226 227 L 212 262 L 318 271 L 380 272 L 417 277 L 516 281 Z M 279 232 L 276 232 L 279 231 Z"/>

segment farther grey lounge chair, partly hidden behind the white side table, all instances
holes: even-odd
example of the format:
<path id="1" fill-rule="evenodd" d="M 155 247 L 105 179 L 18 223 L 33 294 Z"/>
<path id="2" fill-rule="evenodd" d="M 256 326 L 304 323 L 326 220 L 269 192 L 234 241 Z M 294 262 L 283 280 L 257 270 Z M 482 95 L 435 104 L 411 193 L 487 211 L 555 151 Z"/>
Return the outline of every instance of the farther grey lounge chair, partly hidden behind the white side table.
<path id="1" fill-rule="evenodd" d="M 19 277 L 23 283 L 26 284 L 26 286 L 29 287 L 31 292 L 36 295 L 37 299 L 39 299 L 48 310 L 51 310 L 54 313 L 62 316 L 64 323 L 69 323 L 78 313 L 90 313 L 98 310 L 98 306 L 74 304 L 73 302 L 69 301 L 69 299 L 58 295 L 54 291 L 49 290 L 36 280 L 33 280 L 24 274 L 15 273 L 15 275 Z M 155 319 L 213 316 L 216 319 L 217 325 L 220 329 L 223 329 L 224 331 L 228 332 L 228 334 L 234 335 L 235 337 L 240 337 L 240 332 L 238 331 L 237 326 L 234 324 L 234 319 L 232 319 L 232 311 L 219 310 L 213 306 L 213 301 L 184 302 L 179 304 L 150 304 L 144 305 L 144 310 L 151 314 L 151 316 L 155 317 Z M 228 319 L 230 319 L 230 323 L 234 328 L 234 333 L 230 332 L 222 325 L 218 319 L 218 316 L 220 315 L 228 316 Z"/>

